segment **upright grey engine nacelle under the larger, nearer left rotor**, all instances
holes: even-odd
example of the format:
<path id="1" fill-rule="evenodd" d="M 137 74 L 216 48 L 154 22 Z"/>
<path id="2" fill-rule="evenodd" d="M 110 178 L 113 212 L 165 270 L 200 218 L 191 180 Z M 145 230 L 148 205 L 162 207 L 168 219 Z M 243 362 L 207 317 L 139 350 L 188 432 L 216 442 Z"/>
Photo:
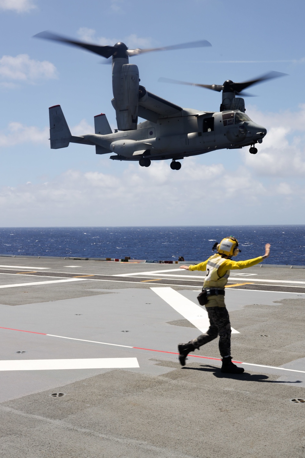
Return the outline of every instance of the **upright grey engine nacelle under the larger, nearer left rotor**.
<path id="1" fill-rule="evenodd" d="M 119 131 L 137 129 L 139 104 L 139 70 L 137 65 L 124 64 L 119 71 L 113 68 L 112 106 L 116 111 Z"/>

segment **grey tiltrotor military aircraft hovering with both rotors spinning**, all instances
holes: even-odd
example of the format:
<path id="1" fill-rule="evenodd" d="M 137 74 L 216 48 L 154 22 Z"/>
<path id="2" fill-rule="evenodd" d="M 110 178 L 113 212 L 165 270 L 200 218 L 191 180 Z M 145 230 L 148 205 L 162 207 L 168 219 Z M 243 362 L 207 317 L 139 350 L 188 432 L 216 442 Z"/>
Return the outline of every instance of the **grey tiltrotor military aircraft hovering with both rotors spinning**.
<path id="1" fill-rule="evenodd" d="M 271 72 L 252 81 L 223 85 L 204 85 L 167 80 L 222 91 L 219 112 L 182 108 L 148 92 L 139 85 L 137 65 L 129 64 L 128 57 L 149 51 L 185 49 L 211 46 L 206 41 L 155 49 L 128 49 L 123 43 L 114 46 L 98 46 L 61 37 L 50 32 L 35 35 L 74 45 L 109 59 L 112 56 L 112 105 L 116 111 L 118 130 L 112 133 L 105 114 L 94 117 L 95 134 L 72 136 L 60 105 L 49 108 L 51 148 L 65 148 L 69 143 L 95 145 L 96 154 L 115 153 L 110 159 L 139 161 L 149 167 L 152 160 L 172 159 L 171 169 L 181 169 L 177 159 L 208 153 L 217 149 L 235 149 L 250 146 L 256 154 L 256 143 L 262 143 L 267 130 L 245 114 L 245 102 L 236 95 L 248 95 L 242 91 L 253 84 L 276 78 L 284 73 Z M 138 116 L 146 121 L 138 124 Z"/>

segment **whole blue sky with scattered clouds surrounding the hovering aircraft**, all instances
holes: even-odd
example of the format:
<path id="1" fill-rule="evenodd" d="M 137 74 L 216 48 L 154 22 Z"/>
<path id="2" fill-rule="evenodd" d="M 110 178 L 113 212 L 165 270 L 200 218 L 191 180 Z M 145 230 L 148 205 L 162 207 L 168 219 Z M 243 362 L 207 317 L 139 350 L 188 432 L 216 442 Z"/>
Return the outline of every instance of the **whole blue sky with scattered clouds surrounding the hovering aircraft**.
<path id="1" fill-rule="evenodd" d="M 0 225 L 305 224 L 304 16 L 301 0 L 0 0 Z M 51 105 L 61 104 L 75 135 L 92 132 L 101 112 L 116 125 L 111 67 L 32 38 L 43 30 L 130 48 L 209 40 L 211 48 L 130 59 L 149 91 L 187 108 L 216 111 L 221 94 L 160 76 L 206 84 L 288 76 L 246 98 L 246 113 L 268 129 L 257 155 L 221 150 L 185 158 L 180 171 L 169 161 L 146 169 L 85 145 L 49 148 Z"/>

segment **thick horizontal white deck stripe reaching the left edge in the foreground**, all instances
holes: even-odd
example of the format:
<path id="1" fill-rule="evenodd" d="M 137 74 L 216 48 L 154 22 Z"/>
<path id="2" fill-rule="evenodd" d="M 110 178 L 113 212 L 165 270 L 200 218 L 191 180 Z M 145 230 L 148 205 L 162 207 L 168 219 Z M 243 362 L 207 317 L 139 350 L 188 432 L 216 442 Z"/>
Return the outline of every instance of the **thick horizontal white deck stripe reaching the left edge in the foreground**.
<path id="1" fill-rule="evenodd" d="M 56 369 L 124 369 L 139 367 L 137 358 L 88 358 L 75 360 L 2 360 L 0 371 L 54 371 Z"/>

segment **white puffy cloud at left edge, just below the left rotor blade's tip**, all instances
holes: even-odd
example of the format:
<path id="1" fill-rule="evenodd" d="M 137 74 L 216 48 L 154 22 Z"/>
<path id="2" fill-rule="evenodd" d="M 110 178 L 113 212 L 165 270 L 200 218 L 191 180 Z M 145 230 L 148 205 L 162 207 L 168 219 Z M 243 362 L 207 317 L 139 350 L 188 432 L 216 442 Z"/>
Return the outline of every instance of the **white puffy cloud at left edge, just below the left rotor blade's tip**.
<path id="1" fill-rule="evenodd" d="M 35 83 L 39 80 L 57 78 L 57 70 L 54 64 L 48 60 L 30 59 L 27 54 L 19 54 L 16 57 L 4 55 L 0 59 L 0 77 L 4 82 L 27 82 Z"/>

